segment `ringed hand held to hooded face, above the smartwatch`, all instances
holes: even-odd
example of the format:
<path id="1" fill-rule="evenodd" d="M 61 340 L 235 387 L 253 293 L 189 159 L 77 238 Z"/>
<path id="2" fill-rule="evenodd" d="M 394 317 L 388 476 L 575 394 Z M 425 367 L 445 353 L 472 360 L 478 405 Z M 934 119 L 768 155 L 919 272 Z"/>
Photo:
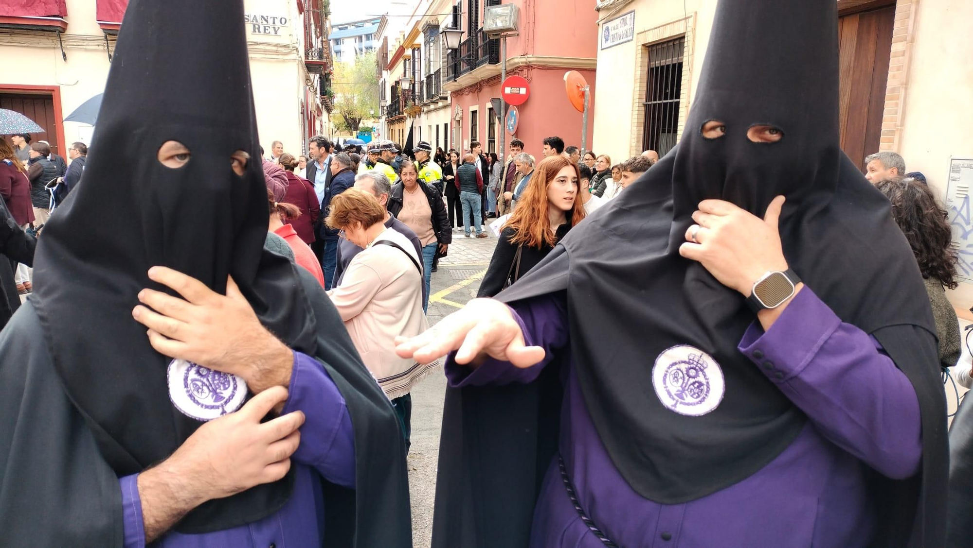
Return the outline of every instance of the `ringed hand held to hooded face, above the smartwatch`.
<path id="1" fill-rule="evenodd" d="M 703 200 L 679 255 L 700 261 L 721 284 L 750 296 L 764 274 L 787 270 L 777 232 L 783 203 L 783 196 L 775 197 L 760 219 L 730 202 Z"/>

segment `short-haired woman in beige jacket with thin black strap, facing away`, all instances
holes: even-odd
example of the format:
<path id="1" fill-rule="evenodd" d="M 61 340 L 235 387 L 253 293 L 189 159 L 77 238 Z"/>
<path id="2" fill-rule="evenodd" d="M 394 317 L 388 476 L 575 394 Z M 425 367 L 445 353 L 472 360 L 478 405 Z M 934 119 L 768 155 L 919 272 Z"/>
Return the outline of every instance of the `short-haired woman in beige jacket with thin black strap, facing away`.
<path id="1" fill-rule="evenodd" d="M 385 210 L 372 194 L 348 188 L 331 200 L 325 223 L 363 248 L 342 284 L 328 291 L 362 361 L 392 400 L 409 445 L 414 384 L 439 362 L 416 363 L 395 354 L 395 337 L 428 327 L 422 312 L 422 259 L 405 236 L 385 228 Z"/>

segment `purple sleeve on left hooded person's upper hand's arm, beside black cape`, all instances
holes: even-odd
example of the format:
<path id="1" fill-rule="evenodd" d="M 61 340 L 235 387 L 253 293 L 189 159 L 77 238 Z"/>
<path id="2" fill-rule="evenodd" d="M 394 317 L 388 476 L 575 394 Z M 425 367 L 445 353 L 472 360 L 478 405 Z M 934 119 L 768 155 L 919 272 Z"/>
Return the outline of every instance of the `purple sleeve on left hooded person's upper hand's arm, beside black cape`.
<path id="1" fill-rule="evenodd" d="M 342 393 L 320 362 L 294 353 L 294 370 L 282 413 L 303 411 L 301 446 L 292 459 L 314 467 L 331 483 L 355 486 L 355 438 Z"/>

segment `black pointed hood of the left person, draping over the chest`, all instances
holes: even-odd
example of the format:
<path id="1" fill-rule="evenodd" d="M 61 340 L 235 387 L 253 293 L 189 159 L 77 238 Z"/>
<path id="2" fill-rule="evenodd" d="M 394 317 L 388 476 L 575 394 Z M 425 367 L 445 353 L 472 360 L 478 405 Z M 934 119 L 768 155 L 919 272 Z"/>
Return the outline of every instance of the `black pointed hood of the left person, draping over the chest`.
<path id="1" fill-rule="evenodd" d="M 191 14 L 191 17 L 187 17 Z M 85 169 L 44 230 L 34 296 L 54 366 L 120 475 L 168 457 L 201 424 L 169 400 L 169 359 L 131 318 L 164 265 L 223 292 L 228 275 L 264 325 L 313 355 L 314 321 L 292 264 L 264 250 L 267 188 L 241 0 L 133 0 Z M 191 151 L 178 169 L 166 141 Z M 231 155 L 250 155 L 238 176 Z M 207 502 L 179 526 L 214 531 L 267 516 L 293 477 Z"/>

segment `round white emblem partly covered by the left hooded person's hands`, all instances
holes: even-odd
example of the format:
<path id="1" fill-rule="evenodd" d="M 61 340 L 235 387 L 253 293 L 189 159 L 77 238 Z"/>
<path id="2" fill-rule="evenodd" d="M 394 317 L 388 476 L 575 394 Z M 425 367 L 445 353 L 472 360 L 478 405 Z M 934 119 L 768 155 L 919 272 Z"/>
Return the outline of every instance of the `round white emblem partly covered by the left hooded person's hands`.
<path id="1" fill-rule="evenodd" d="M 167 380 L 172 404 L 197 421 L 211 421 L 233 413 L 246 399 L 243 379 L 191 361 L 170 361 Z"/>

